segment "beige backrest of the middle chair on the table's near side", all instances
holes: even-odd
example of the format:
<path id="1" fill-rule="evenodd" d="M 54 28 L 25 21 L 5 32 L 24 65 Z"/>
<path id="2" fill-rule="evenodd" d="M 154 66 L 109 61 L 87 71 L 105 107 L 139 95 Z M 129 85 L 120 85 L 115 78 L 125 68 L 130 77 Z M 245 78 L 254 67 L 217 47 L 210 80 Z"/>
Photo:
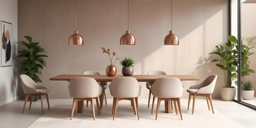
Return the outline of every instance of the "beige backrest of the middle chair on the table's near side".
<path id="1" fill-rule="evenodd" d="M 140 96 L 141 86 L 133 77 L 116 77 L 111 81 L 109 90 L 116 98 L 135 98 Z"/>

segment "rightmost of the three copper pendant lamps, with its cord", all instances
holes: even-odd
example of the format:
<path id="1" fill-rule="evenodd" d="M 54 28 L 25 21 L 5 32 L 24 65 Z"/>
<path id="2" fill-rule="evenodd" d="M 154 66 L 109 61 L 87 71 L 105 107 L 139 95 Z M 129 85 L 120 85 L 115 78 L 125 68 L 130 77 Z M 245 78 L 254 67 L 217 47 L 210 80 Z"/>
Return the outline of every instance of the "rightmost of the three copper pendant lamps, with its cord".
<path id="1" fill-rule="evenodd" d="M 171 4 L 172 4 L 172 0 L 171 0 Z M 171 18 L 172 18 L 172 9 L 171 9 Z M 164 45 L 179 45 L 179 38 L 174 34 L 174 31 L 172 30 L 172 22 L 171 22 L 171 30 L 169 31 L 169 34 L 164 38 Z"/>

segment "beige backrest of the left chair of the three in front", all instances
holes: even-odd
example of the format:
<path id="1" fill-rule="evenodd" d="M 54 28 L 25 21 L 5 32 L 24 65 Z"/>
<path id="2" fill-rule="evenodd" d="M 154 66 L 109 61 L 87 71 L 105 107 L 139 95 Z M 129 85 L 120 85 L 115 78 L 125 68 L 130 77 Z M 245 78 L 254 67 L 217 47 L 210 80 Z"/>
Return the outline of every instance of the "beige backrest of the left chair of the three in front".
<path id="1" fill-rule="evenodd" d="M 68 89 L 70 97 L 73 98 L 95 98 L 102 92 L 102 87 L 89 77 L 71 78 Z"/>

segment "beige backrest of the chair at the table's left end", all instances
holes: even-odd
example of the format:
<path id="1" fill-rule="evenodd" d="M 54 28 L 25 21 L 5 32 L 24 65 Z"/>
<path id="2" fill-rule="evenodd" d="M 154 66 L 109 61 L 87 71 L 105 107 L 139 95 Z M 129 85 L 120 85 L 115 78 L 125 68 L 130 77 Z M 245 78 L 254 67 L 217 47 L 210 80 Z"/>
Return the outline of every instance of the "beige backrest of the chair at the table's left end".
<path id="1" fill-rule="evenodd" d="M 37 94 L 37 83 L 33 81 L 28 75 L 20 75 L 22 89 L 25 94 Z"/>

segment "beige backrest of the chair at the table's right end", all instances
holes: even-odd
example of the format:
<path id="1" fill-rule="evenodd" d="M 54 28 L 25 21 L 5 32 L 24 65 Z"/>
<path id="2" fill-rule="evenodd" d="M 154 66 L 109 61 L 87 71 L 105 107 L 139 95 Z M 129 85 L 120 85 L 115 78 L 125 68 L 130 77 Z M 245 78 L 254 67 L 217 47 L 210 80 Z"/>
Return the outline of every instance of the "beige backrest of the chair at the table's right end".
<path id="1" fill-rule="evenodd" d="M 212 94 L 217 81 L 217 75 L 213 74 L 208 76 L 202 83 L 200 89 L 197 91 L 198 94 Z"/>

